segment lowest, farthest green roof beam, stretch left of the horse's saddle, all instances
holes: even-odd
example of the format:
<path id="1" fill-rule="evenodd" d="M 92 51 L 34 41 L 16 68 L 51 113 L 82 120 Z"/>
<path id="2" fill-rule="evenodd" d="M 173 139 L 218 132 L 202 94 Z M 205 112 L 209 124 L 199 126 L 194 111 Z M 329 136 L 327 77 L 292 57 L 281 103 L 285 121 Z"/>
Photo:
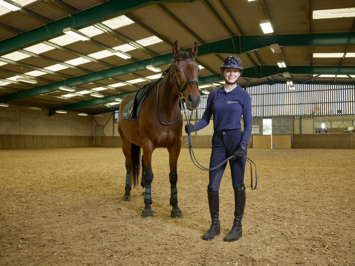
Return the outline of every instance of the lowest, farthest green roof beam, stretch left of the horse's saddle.
<path id="1" fill-rule="evenodd" d="M 133 92 L 136 92 L 136 90 L 133 90 L 132 92 L 119 93 L 119 94 L 105 96 L 102 98 L 95 98 L 95 99 L 86 100 L 86 101 L 74 102 L 72 104 L 65 104 L 65 105 L 59 105 L 57 107 L 51 107 L 51 108 L 49 108 L 49 115 L 48 116 L 54 115 L 55 110 L 73 110 L 73 109 L 84 108 L 87 106 L 92 106 L 92 105 L 97 105 L 97 104 L 105 104 L 107 102 L 115 101 L 116 98 L 124 98 L 125 96 L 127 96 L 128 94 L 133 93 Z"/>

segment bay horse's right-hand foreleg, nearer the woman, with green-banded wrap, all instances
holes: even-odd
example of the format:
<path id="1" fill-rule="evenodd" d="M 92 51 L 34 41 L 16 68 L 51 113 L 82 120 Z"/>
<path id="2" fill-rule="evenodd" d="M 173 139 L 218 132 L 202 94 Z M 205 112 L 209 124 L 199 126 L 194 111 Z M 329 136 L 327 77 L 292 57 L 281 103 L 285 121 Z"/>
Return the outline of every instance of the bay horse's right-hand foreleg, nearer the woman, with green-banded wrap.
<path id="1" fill-rule="evenodd" d="M 176 183 L 178 182 L 178 158 L 180 154 L 180 145 L 175 145 L 173 148 L 168 149 L 169 151 L 169 165 L 170 165 L 170 173 L 169 173 L 169 181 L 170 181 L 170 205 L 173 206 L 171 210 L 171 217 L 173 218 L 181 218 L 182 212 L 178 207 L 178 188 L 176 187 Z"/>

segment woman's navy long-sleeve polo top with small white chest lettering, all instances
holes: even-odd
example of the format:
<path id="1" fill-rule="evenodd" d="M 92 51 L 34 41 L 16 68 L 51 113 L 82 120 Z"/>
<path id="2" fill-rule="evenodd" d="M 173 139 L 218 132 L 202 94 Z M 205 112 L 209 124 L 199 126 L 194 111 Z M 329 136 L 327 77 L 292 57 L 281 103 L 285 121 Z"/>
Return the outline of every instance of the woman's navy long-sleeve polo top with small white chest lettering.
<path id="1" fill-rule="evenodd" d="M 212 115 L 214 132 L 241 128 L 243 116 L 244 131 L 240 145 L 247 146 L 252 128 L 251 98 L 247 91 L 239 85 L 228 93 L 224 86 L 213 90 L 208 95 L 201 120 L 195 124 L 196 130 L 206 127 Z"/>

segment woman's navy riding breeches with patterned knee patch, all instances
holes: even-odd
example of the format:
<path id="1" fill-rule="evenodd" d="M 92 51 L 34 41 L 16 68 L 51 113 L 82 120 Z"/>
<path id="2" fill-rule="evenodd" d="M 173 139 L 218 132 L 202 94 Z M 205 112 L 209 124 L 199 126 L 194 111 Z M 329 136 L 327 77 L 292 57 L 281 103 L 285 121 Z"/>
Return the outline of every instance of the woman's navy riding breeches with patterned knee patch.
<path id="1" fill-rule="evenodd" d="M 214 132 L 212 137 L 212 152 L 209 161 L 209 168 L 215 167 L 230 156 L 233 156 L 237 150 L 242 137 L 241 129 L 229 131 Z M 245 156 L 246 152 L 245 152 Z M 227 163 L 215 170 L 209 171 L 209 191 L 213 194 L 218 193 L 219 185 Z M 232 175 L 233 188 L 237 188 L 240 183 L 244 183 L 245 159 L 229 160 L 230 171 Z"/>

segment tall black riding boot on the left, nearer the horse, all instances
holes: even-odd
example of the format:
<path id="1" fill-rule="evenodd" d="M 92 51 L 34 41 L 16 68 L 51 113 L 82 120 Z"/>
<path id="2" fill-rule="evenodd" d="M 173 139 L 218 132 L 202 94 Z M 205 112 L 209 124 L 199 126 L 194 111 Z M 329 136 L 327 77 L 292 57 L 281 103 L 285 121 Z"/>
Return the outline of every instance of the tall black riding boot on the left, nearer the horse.
<path id="1" fill-rule="evenodd" d="M 212 225 L 207 230 L 207 232 L 203 234 L 202 238 L 204 240 L 213 239 L 215 235 L 220 234 L 220 224 L 219 224 L 219 218 L 218 218 L 219 195 L 218 195 L 218 193 L 212 194 L 211 192 L 209 192 L 208 185 L 207 185 L 207 198 L 208 198 L 209 212 L 211 213 Z"/>

